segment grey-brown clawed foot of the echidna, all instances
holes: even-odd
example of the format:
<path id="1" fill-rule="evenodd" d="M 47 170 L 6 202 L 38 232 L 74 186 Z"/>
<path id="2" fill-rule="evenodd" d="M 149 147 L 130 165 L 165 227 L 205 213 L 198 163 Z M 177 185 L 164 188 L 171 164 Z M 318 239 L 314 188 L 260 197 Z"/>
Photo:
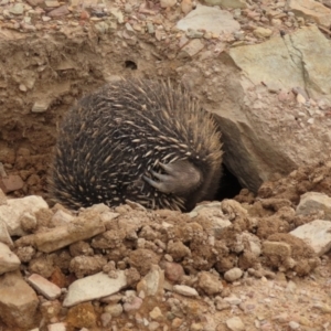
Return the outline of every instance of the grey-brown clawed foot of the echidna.
<path id="1" fill-rule="evenodd" d="M 168 164 L 159 163 L 159 166 L 166 171 L 166 174 L 151 171 L 151 174 L 159 181 L 154 181 L 146 175 L 142 178 L 162 193 L 189 196 L 201 183 L 201 172 L 186 160 L 174 161 Z"/>

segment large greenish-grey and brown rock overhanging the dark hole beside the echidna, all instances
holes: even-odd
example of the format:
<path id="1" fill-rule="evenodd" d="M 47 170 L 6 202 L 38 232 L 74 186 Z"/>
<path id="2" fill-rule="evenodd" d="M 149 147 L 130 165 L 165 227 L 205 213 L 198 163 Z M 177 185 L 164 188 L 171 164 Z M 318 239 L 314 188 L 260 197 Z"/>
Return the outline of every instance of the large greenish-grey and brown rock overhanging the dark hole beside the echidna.
<path id="1" fill-rule="evenodd" d="M 331 100 L 331 43 L 317 26 L 231 49 L 223 63 L 231 72 L 222 83 L 225 94 L 218 90 L 218 97 L 215 87 L 211 97 L 220 104 L 207 109 L 222 129 L 224 163 L 243 186 L 256 192 L 274 173 L 288 174 L 330 156 L 331 121 L 291 93 L 297 87 L 316 100 Z"/>

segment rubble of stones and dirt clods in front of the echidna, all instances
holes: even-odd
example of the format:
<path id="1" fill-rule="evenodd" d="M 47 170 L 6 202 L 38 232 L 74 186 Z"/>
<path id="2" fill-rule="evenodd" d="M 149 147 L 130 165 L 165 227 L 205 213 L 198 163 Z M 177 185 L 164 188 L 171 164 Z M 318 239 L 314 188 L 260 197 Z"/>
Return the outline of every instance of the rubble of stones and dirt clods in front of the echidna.
<path id="1" fill-rule="evenodd" d="M 330 330 L 330 180 L 299 169 L 189 214 L 2 193 L 1 328 Z"/>

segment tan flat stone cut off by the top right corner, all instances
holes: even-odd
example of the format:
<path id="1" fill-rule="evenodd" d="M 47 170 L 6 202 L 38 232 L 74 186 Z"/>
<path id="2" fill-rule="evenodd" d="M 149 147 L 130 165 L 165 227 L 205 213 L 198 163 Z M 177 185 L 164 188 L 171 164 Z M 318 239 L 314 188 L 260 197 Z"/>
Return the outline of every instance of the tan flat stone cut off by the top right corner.
<path id="1" fill-rule="evenodd" d="M 331 25 L 331 10 L 322 3 L 313 0 L 289 0 L 288 9 L 297 17 L 312 19 L 325 28 Z"/>

